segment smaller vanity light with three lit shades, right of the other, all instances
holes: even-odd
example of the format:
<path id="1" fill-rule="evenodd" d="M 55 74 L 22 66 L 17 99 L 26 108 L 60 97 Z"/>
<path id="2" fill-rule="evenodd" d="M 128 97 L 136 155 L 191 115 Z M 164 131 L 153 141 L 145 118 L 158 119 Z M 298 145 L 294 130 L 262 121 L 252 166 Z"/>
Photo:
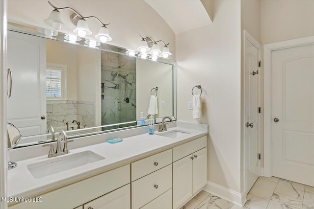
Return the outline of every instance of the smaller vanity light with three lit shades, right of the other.
<path id="1" fill-rule="evenodd" d="M 164 45 L 162 51 L 160 51 L 160 48 L 157 44 L 158 42 L 161 42 Z M 164 43 L 162 40 L 155 41 L 152 37 L 148 36 L 146 38 L 142 37 L 140 46 L 137 48 L 137 50 L 141 52 L 141 55 L 149 52 L 149 54 L 152 54 L 151 59 L 156 61 L 158 55 L 162 56 L 163 58 L 168 58 L 168 56 L 171 55 L 168 45 L 169 44 Z M 143 59 L 146 59 L 146 57 Z"/>

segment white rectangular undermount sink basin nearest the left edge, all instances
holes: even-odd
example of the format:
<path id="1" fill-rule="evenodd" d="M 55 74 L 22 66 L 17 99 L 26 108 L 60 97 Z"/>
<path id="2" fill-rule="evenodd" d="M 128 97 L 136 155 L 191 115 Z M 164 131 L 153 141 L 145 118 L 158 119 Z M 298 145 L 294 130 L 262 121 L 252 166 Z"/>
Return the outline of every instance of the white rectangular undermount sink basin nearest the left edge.
<path id="1" fill-rule="evenodd" d="M 29 164 L 26 167 L 35 179 L 39 179 L 104 159 L 104 157 L 92 151 L 85 151 L 73 155 L 64 155 L 56 159 L 52 158 L 40 163 Z"/>

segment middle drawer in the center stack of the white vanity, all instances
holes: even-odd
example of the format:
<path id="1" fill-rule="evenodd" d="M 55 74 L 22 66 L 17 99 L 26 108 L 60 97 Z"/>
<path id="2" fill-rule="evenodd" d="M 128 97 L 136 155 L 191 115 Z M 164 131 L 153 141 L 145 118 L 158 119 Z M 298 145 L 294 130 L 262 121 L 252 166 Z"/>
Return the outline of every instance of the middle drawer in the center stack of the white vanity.
<path id="1" fill-rule="evenodd" d="M 169 190 L 171 186 L 172 164 L 132 182 L 132 209 L 141 208 Z"/>

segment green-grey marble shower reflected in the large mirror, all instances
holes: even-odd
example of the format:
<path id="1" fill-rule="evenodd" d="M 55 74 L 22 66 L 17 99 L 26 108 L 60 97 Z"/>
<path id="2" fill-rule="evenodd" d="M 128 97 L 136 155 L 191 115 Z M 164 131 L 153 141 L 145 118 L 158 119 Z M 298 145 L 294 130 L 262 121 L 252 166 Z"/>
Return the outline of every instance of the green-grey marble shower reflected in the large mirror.
<path id="1" fill-rule="evenodd" d="M 134 57 L 102 51 L 102 125 L 136 120 L 135 68 Z"/>

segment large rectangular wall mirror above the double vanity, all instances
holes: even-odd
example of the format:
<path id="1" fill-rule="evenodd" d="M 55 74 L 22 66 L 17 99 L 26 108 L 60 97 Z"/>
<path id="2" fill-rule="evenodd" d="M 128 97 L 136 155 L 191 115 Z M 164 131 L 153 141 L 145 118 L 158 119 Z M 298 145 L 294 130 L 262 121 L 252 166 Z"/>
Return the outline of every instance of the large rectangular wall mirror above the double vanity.
<path id="1" fill-rule="evenodd" d="M 49 142 L 60 130 L 76 137 L 136 127 L 140 112 L 149 115 L 152 95 L 157 123 L 175 119 L 175 61 L 128 56 L 106 44 L 84 46 L 83 40 L 73 44 L 62 33 L 47 38 L 44 28 L 24 23 L 8 28 L 7 118 L 21 131 L 18 146 Z"/>

